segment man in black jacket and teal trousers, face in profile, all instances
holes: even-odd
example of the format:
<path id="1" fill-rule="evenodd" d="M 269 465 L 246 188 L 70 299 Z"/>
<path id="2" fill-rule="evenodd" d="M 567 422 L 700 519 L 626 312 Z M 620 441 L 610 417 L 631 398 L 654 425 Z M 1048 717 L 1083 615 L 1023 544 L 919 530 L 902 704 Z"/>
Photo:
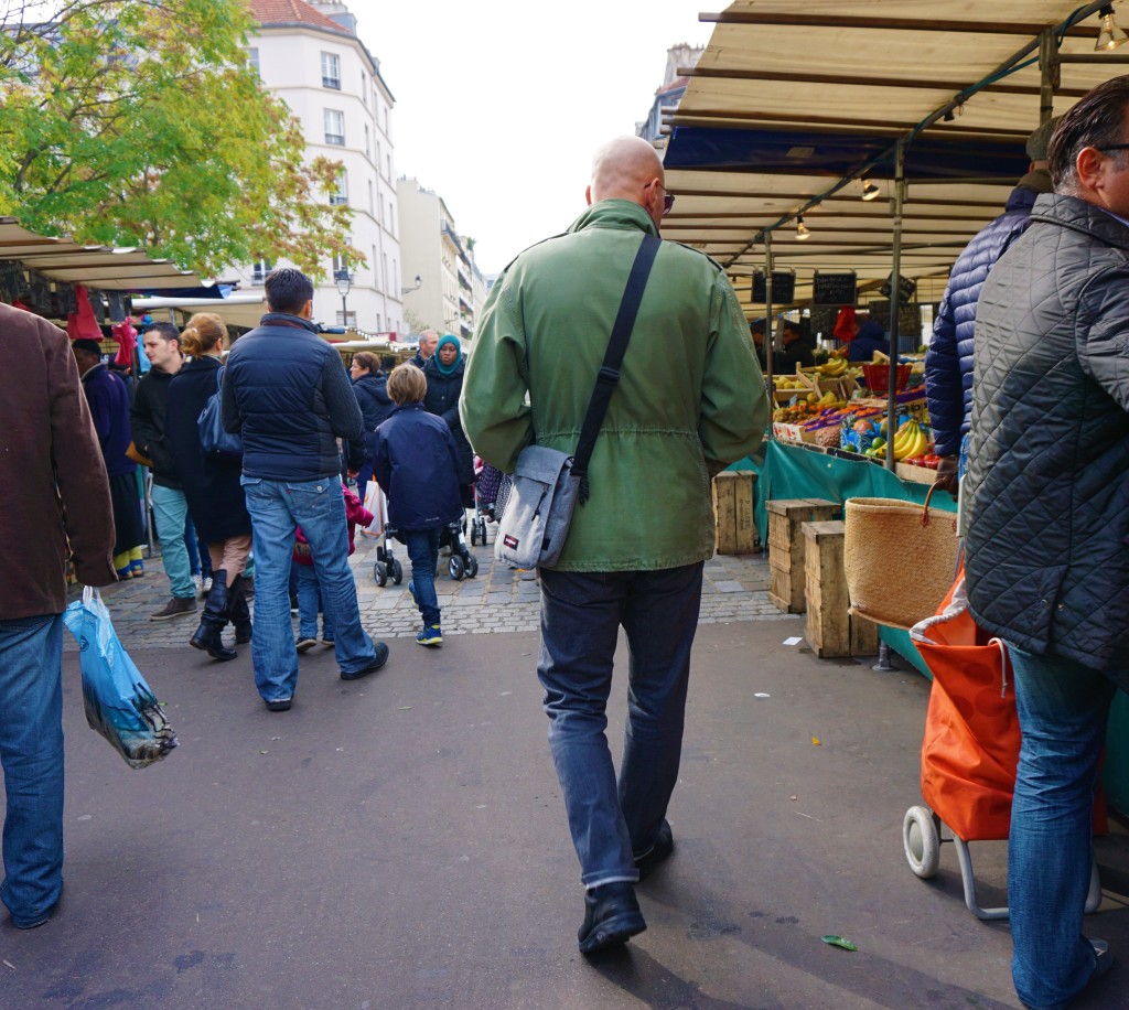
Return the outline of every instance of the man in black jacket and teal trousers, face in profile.
<path id="1" fill-rule="evenodd" d="M 172 323 L 154 323 L 145 332 L 145 354 L 152 368 L 138 383 L 130 407 L 130 430 L 133 445 L 152 460 L 152 513 L 160 541 L 160 560 L 173 596 L 150 621 L 167 621 L 196 612 L 195 583 L 184 543 L 184 526 L 189 503 L 181 490 L 173 464 L 173 453 L 165 437 L 165 413 L 168 406 L 168 384 L 184 363 L 181 334 Z"/>

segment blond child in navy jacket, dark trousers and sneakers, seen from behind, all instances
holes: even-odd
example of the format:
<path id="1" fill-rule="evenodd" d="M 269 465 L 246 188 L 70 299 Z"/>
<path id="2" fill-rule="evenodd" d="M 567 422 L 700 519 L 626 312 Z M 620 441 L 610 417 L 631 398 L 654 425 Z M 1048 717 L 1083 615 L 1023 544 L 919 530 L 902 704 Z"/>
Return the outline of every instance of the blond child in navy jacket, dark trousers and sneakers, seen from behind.
<path id="1" fill-rule="evenodd" d="M 396 410 L 376 429 L 373 476 L 388 498 L 388 526 L 408 545 L 412 581 L 408 591 L 420 609 L 420 645 L 441 645 L 435 569 L 439 534 L 463 518 L 458 491 L 458 449 L 450 428 L 423 409 L 427 379 L 414 365 L 401 365 L 388 376 L 388 396 Z"/>

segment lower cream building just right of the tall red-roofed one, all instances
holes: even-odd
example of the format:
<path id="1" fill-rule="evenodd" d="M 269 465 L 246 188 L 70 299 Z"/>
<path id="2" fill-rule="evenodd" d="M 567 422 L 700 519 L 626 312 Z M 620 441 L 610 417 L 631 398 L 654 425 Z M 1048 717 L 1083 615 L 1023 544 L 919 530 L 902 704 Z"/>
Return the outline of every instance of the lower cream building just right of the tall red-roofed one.
<path id="1" fill-rule="evenodd" d="M 437 330 L 470 340 L 475 318 L 474 261 L 466 239 L 443 197 L 417 179 L 400 179 L 396 195 L 403 225 L 405 317 L 415 331 Z"/>

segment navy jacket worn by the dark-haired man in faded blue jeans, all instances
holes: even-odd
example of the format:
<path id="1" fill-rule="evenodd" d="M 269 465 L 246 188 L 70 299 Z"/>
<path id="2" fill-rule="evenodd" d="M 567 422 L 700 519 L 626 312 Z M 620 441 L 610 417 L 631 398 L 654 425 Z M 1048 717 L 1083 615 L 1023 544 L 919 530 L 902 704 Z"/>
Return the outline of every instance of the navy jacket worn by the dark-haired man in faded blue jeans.
<path id="1" fill-rule="evenodd" d="M 362 419 L 341 355 L 312 323 L 271 313 L 236 341 L 224 376 L 224 427 L 243 436 L 243 474 L 316 481 L 365 459 Z"/>

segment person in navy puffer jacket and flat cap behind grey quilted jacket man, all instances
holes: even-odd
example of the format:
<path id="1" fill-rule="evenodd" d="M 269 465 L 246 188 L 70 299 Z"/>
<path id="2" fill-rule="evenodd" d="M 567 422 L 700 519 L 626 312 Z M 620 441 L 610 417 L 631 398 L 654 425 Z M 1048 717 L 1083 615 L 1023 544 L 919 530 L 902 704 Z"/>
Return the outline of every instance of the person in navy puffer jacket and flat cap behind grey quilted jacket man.
<path id="1" fill-rule="evenodd" d="M 925 389 L 929 421 L 940 456 L 937 486 L 956 495 L 968 458 L 972 415 L 972 346 L 977 299 L 996 261 L 1031 223 L 1031 209 L 1040 193 L 1050 193 L 1047 148 L 1058 120 L 1048 120 L 1027 138 L 1027 174 L 1016 183 L 996 220 L 986 225 L 956 257 L 945 296 L 933 324 L 933 340 L 925 355 Z"/>

